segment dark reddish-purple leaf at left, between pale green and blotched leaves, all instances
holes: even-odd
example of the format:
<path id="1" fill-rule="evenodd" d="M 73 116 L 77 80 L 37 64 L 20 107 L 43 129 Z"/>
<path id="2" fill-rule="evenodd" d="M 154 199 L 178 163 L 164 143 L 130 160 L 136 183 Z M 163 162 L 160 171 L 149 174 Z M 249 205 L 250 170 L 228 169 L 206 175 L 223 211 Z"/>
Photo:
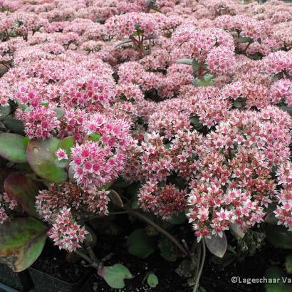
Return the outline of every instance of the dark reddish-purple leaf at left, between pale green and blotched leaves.
<path id="1" fill-rule="evenodd" d="M 36 217 L 36 194 L 38 194 L 38 186 L 35 182 L 21 172 L 12 172 L 6 177 L 4 189 L 11 199 L 15 199 L 24 209 L 24 211 Z"/>

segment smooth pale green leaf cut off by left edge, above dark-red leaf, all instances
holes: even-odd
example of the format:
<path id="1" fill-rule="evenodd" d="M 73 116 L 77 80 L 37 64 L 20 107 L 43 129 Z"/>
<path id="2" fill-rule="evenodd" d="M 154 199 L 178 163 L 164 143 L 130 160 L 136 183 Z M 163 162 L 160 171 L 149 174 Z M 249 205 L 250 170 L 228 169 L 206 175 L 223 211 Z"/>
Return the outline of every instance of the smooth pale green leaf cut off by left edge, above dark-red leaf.
<path id="1" fill-rule="evenodd" d="M 16 163 L 26 162 L 24 136 L 4 132 L 0 134 L 0 156 Z"/>

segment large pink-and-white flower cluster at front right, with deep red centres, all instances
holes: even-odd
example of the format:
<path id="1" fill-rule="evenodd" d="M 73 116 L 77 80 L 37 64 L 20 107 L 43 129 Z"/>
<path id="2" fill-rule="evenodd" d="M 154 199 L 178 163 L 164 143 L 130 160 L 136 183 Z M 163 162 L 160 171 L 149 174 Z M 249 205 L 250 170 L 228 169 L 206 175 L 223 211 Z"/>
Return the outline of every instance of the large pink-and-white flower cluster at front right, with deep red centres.
<path id="1" fill-rule="evenodd" d="M 278 130 L 276 130 L 278 127 Z M 276 183 L 271 167 L 289 157 L 291 119 L 276 108 L 261 113 L 233 111 L 207 135 L 199 170 L 189 187 L 189 220 L 196 236 L 218 234 L 237 224 L 259 224 Z"/>

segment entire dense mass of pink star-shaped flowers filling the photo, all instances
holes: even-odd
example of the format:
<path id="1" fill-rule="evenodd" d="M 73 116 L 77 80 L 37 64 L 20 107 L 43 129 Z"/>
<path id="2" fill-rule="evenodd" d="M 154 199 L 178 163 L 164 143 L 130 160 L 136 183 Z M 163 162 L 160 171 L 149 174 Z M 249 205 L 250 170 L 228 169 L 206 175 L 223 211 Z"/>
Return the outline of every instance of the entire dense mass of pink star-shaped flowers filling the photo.
<path id="1" fill-rule="evenodd" d="M 57 246 L 82 245 L 117 179 L 198 239 L 268 212 L 292 231 L 292 5 L 250 2 L 0 1 L 1 132 L 53 139 L 63 176 L 41 158 L 30 176 Z M 0 196 L 0 224 L 15 206 Z"/>

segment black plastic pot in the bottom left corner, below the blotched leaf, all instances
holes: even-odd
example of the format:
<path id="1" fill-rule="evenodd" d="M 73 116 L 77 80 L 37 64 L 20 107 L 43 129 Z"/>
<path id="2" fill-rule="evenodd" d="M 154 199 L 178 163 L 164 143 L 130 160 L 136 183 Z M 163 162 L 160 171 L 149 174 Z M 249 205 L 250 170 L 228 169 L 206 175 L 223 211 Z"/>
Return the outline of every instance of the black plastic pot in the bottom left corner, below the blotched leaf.
<path id="1" fill-rule="evenodd" d="M 2 287 L 0 285 L 0 291 L 9 291 L 9 287 L 11 287 L 17 291 L 26 292 L 33 286 L 28 271 L 15 273 L 6 264 L 0 264 L 0 283 L 4 284 Z"/>

